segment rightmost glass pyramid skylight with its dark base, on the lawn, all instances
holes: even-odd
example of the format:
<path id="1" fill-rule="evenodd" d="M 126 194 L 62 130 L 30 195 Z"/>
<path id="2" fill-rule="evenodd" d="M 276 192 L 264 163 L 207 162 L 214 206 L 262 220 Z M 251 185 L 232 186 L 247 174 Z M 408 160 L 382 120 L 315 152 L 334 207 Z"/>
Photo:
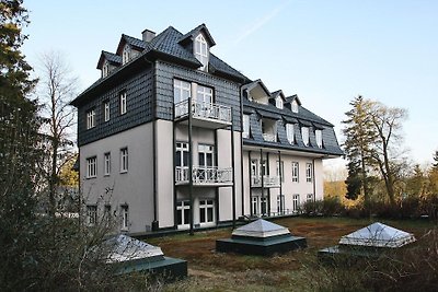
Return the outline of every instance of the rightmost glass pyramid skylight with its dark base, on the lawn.
<path id="1" fill-rule="evenodd" d="M 318 256 L 320 259 L 336 255 L 377 257 L 382 252 L 390 252 L 415 241 L 411 233 L 376 222 L 342 236 L 338 245 L 319 250 Z"/>

